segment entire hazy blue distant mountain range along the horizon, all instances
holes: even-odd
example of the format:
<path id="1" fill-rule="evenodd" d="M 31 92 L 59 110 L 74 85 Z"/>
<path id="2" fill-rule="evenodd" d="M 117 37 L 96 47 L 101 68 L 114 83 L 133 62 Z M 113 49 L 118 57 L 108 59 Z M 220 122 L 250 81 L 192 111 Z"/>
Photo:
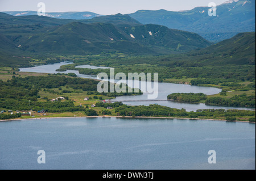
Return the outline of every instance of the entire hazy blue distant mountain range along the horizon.
<path id="1" fill-rule="evenodd" d="M 93 12 L 48 12 L 46 15 L 55 19 L 67 19 L 63 22 L 51 20 L 53 24 L 67 24 L 73 20 L 83 23 L 112 23 L 123 27 L 137 26 L 141 23 L 159 24 L 172 29 L 195 32 L 213 42 L 229 39 L 240 32 L 255 31 L 255 0 L 230 0 L 222 3 L 217 6 L 217 16 L 209 16 L 209 9 L 210 7 L 196 7 L 188 11 L 139 10 L 128 14 L 129 16 L 121 14 L 104 16 Z M 16 18 L 25 15 L 37 16 L 36 11 L 5 12 Z M 31 17 L 31 23 L 34 19 Z M 2 22 L 1 19 L 0 22 Z M 42 22 L 44 23 L 50 22 Z"/>

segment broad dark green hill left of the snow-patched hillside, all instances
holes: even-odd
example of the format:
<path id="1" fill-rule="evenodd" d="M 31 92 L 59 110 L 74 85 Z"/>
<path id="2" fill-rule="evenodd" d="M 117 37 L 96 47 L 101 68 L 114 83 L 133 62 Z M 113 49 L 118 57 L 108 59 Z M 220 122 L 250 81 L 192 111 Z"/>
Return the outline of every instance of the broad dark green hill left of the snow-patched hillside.
<path id="1" fill-rule="evenodd" d="M 130 41 L 113 24 L 70 23 L 55 31 L 19 39 L 24 50 L 57 54 L 100 54 L 101 52 L 151 53 L 150 49 Z"/>

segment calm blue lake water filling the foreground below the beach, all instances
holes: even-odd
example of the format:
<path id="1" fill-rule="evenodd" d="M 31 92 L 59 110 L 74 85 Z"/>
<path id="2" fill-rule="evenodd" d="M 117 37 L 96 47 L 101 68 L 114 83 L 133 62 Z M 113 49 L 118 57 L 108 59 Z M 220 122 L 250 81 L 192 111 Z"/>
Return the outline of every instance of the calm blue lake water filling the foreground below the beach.
<path id="1" fill-rule="evenodd" d="M 255 169 L 251 123 L 72 117 L 0 122 L 0 137 L 0 169 Z"/>

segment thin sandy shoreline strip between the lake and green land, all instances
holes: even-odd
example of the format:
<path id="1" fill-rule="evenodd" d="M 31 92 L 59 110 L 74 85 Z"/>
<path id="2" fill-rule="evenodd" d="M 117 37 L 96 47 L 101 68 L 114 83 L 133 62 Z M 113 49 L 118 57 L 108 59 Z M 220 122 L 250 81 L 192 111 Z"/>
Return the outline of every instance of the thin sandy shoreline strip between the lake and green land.
<path id="1" fill-rule="evenodd" d="M 227 121 L 225 119 L 203 119 L 203 118 L 189 118 L 189 117 L 147 117 L 147 116 L 74 116 L 72 118 L 96 118 L 96 117 L 117 117 L 117 118 L 138 118 L 138 119 L 189 119 L 189 120 L 209 120 L 209 121 Z M 21 119 L 5 119 L 0 120 L 0 122 L 5 121 L 21 121 L 21 120 L 40 120 L 40 119 L 61 119 L 61 118 L 71 118 L 70 117 L 35 117 L 35 118 L 21 118 Z M 241 122 L 241 123 L 255 123 L 250 121 L 227 121 L 227 122 Z"/>

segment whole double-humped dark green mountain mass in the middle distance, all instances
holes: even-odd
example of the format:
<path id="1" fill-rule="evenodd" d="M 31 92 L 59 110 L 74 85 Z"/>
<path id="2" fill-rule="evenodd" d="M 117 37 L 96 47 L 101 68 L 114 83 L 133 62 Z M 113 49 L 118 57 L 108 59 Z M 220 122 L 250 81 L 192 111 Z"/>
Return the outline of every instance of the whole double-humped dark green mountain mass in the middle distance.
<path id="1" fill-rule="evenodd" d="M 22 36 L 16 41 L 26 51 L 59 54 L 166 54 L 210 45 L 196 33 L 159 25 L 121 28 L 110 23 L 81 22 L 66 24 L 52 32 Z"/>

